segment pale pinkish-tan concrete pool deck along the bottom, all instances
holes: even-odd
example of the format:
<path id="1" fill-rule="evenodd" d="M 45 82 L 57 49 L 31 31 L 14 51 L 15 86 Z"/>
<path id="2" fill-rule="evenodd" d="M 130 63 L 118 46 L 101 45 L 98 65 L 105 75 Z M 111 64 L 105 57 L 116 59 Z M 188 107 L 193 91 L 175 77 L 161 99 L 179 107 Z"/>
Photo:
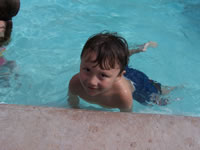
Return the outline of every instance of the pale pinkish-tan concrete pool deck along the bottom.
<path id="1" fill-rule="evenodd" d="M 1 150 L 198 150 L 200 118 L 0 105 Z"/>

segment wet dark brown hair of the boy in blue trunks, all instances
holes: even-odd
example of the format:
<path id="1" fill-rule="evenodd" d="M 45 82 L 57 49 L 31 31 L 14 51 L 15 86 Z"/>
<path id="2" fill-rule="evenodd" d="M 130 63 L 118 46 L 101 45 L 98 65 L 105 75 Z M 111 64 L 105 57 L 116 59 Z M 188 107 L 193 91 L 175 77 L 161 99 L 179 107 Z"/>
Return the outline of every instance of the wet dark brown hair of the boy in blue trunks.
<path id="1" fill-rule="evenodd" d="M 113 69 L 118 63 L 120 73 L 125 70 L 129 61 L 128 44 L 117 33 L 102 32 L 90 37 L 83 47 L 81 59 L 91 54 L 97 55 L 93 62 L 97 63 L 96 65 L 99 65 L 101 69 Z"/>

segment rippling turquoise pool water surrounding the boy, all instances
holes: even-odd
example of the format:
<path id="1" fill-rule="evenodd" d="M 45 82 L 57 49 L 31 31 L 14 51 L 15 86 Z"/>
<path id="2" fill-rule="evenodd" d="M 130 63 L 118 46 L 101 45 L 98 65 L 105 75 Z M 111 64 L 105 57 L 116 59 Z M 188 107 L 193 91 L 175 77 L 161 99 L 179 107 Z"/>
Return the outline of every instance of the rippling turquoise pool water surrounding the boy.
<path id="1" fill-rule="evenodd" d="M 12 42 L 5 57 L 17 68 L 9 86 L 0 86 L 6 104 L 66 107 L 71 77 L 89 36 L 108 30 L 129 46 L 149 40 L 158 47 L 134 55 L 130 65 L 168 86 L 183 86 L 167 106 L 134 112 L 200 116 L 200 0 L 21 0 L 13 19 Z M 81 101 L 83 109 L 103 109 Z"/>

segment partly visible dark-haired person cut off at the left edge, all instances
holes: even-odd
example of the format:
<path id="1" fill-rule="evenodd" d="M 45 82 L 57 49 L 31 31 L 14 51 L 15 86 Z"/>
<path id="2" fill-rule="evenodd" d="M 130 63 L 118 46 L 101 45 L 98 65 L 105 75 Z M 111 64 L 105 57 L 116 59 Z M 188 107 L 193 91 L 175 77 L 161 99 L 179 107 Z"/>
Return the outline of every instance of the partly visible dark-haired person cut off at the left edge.
<path id="1" fill-rule="evenodd" d="M 20 0 L 0 0 L 0 79 L 4 80 L 16 66 L 15 61 L 7 60 L 3 53 L 11 41 L 12 18 L 17 15 L 19 8 Z"/>

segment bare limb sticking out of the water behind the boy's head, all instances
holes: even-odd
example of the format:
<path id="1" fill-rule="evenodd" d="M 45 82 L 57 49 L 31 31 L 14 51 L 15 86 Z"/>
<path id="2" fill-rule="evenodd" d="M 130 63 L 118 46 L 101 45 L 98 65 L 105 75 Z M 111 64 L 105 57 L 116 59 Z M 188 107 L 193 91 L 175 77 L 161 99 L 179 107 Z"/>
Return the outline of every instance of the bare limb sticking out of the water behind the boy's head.
<path id="1" fill-rule="evenodd" d="M 145 52 L 147 50 L 148 47 L 157 47 L 157 43 L 156 42 L 152 42 L 149 41 L 147 43 L 144 43 L 143 45 L 138 45 L 139 48 L 137 49 L 131 49 L 129 50 L 129 56 L 136 54 L 136 53 L 140 53 L 140 52 Z"/>

